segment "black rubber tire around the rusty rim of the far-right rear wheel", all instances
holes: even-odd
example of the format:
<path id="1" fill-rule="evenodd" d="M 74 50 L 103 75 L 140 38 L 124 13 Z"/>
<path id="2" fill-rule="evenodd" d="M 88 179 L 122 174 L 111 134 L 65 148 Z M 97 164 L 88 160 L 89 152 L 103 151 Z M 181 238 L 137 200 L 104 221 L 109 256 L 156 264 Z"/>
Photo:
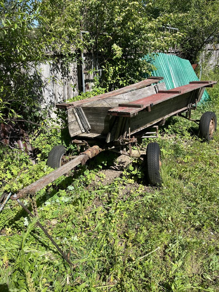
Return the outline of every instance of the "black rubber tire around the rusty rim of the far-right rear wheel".
<path id="1" fill-rule="evenodd" d="M 211 119 L 214 119 L 215 129 L 217 128 L 217 117 L 214 112 L 204 112 L 199 122 L 199 137 L 204 141 L 210 142 L 213 138 L 209 135 L 209 126 Z"/>

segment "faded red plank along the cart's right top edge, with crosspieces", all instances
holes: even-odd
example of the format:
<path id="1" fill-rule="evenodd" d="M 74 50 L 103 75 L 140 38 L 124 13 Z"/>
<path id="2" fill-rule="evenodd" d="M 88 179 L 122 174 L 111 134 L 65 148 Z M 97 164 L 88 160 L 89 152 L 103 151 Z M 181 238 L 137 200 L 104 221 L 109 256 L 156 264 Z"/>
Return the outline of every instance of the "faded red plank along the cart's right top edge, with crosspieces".
<path id="1" fill-rule="evenodd" d="M 145 109 L 147 106 L 150 106 L 151 104 L 156 105 L 162 101 L 172 99 L 175 96 L 182 95 L 182 94 L 188 93 L 190 91 L 194 91 L 198 88 L 205 87 L 205 86 L 208 86 L 209 84 L 215 84 L 215 83 L 217 83 L 217 81 L 209 81 L 208 84 L 195 83 L 195 84 L 183 85 L 183 86 L 174 88 L 175 91 L 181 91 L 181 93 L 173 93 L 171 95 L 169 93 L 156 93 L 156 94 L 152 94 L 150 96 L 144 97 L 144 98 L 140 98 L 139 100 L 129 102 L 129 104 L 128 104 L 128 105 L 131 105 L 132 103 L 134 103 L 135 105 L 142 106 L 141 108 L 126 107 L 126 106 L 115 107 L 113 109 L 109 109 L 108 113 L 111 115 L 123 115 L 123 116 L 131 117 L 133 114 L 141 111 L 142 109 Z"/>

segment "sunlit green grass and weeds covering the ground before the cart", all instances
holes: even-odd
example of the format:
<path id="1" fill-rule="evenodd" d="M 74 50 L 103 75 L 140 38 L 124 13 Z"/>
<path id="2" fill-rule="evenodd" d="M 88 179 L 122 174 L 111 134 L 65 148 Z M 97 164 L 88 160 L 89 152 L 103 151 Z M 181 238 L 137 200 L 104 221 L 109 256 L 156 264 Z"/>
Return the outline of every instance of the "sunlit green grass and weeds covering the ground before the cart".
<path id="1" fill-rule="evenodd" d="M 211 96 L 194 116 L 219 117 L 218 87 Z M 105 184 L 117 157 L 102 153 L 38 192 L 40 222 L 75 268 L 10 201 L 0 218 L 1 291 L 219 291 L 219 135 L 203 143 L 197 131 L 179 117 L 160 129 L 160 189 L 147 187 L 134 159 Z"/>

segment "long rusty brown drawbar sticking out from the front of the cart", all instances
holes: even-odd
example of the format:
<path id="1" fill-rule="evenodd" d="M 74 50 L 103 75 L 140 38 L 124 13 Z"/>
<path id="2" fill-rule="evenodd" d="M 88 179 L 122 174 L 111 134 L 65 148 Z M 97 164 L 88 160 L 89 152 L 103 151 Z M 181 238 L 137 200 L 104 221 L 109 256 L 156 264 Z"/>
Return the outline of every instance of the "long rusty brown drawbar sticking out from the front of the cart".
<path id="1" fill-rule="evenodd" d="M 49 183 L 52 183 L 54 180 L 59 178 L 60 176 L 64 175 L 65 173 L 72 170 L 72 168 L 76 167 L 77 165 L 82 163 L 85 163 L 88 159 L 94 157 L 98 153 L 102 151 L 102 149 L 99 146 L 93 146 L 89 149 L 89 152 L 80 153 L 79 156 L 72 159 L 71 161 L 67 162 L 66 164 L 60 166 L 59 168 L 53 170 L 51 173 L 43 176 L 36 182 L 32 183 L 31 185 L 25 187 L 24 189 L 18 191 L 16 197 L 11 196 L 11 200 L 17 200 L 20 198 L 26 197 L 28 194 L 34 195 L 36 192 L 41 190 L 42 188 L 46 187 Z M 84 160 L 85 158 L 85 160 Z"/>

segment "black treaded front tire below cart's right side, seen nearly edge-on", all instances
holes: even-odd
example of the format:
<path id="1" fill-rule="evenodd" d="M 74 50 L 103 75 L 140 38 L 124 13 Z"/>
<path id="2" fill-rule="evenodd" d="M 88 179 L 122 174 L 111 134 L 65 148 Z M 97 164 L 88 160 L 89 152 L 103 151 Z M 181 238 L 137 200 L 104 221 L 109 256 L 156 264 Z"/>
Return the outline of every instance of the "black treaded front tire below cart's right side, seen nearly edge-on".
<path id="1" fill-rule="evenodd" d="M 147 145 L 145 164 L 147 179 L 150 185 L 161 185 L 159 157 L 160 147 L 158 143 L 149 143 Z"/>

